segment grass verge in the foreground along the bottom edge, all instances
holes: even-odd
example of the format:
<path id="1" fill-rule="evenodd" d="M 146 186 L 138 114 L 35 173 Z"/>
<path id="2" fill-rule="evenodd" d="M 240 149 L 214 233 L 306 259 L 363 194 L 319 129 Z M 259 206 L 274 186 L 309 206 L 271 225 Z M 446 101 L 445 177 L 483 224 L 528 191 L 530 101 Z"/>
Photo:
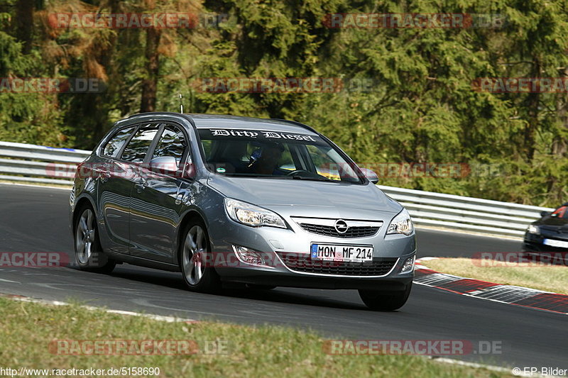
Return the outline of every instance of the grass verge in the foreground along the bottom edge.
<path id="1" fill-rule="evenodd" d="M 381 316 L 377 314 L 377 317 Z M 412 325 L 410 325 L 412 327 Z M 228 354 L 54 355 L 52 340 L 225 340 Z M 0 297 L 0 367 L 85 369 L 159 367 L 160 377 L 509 377 L 423 357 L 327 355 L 322 338 L 278 326 L 167 323 Z"/>

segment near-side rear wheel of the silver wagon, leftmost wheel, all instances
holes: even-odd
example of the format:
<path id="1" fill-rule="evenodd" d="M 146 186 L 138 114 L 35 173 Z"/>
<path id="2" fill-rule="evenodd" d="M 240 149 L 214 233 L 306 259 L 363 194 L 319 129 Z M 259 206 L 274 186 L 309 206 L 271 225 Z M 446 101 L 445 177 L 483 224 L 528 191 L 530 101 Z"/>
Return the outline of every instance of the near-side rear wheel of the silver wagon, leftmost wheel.
<path id="1" fill-rule="evenodd" d="M 110 259 L 101 246 L 99 229 L 94 211 L 89 205 L 77 210 L 75 219 L 75 260 L 79 269 L 88 272 L 109 274 L 116 267 L 116 261 Z"/>

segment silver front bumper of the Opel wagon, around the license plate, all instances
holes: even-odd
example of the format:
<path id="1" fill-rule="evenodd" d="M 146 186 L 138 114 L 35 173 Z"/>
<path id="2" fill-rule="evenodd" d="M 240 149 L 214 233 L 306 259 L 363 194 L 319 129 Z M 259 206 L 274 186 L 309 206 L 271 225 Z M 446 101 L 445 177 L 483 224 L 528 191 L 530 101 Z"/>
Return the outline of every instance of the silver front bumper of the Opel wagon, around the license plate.
<path id="1" fill-rule="evenodd" d="M 222 218 L 222 217 L 219 217 Z M 376 291 L 404 291 L 412 282 L 414 269 L 401 272 L 405 261 L 415 256 L 416 240 L 412 235 L 385 235 L 383 225 L 376 235 L 366 238 L 333 238 L 309 233 L 290 218 L 285 217 L 290 228 L 252 228 L 224 216 L 221 225 L 209 228 L 212 253 L 233 255 L 234 246 L 262 252 L 271 263 L 268 266 L 250 265 L 238 257 L 238 266 L 215 266 L 225 282 L 263 284 L 278 287 L 302 287 L 313 289 L 372 289 Z M 306 269 L 310 265 L 310 245 L 329 243 L 343 245 L 372 245 L 373 263 L 339 263 L 336 266 Z M 302 263 L 300 268 L 285 259 L 293 255 Z M 321 260 L 318 260 L 321 263 Z M 388 266 L 385 265 L 388 263 Z M 379 269 L 375 265 L 385 265 Z"/>

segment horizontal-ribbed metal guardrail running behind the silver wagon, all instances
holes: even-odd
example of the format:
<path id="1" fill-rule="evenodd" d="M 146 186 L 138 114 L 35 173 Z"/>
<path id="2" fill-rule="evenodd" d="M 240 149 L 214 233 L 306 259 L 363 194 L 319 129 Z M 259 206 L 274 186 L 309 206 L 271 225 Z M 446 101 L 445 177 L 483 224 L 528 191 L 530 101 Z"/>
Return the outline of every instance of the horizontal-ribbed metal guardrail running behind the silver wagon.
<path id="1" fill-rule="evenodd" d="M 86 150 L 0 142 L 0 179 L 71 185 L 75 166 L 90 153 Z M 546 207 L 432 191 L 383 185 L 378 187 L 403 204 L 418 226 L 515 237 L 523 235 L 528 224 L 540 218 L 540 211 L 552 211 Z"/>

